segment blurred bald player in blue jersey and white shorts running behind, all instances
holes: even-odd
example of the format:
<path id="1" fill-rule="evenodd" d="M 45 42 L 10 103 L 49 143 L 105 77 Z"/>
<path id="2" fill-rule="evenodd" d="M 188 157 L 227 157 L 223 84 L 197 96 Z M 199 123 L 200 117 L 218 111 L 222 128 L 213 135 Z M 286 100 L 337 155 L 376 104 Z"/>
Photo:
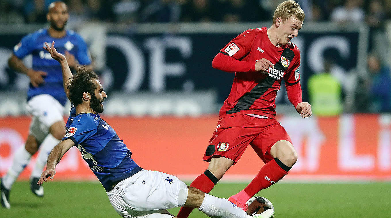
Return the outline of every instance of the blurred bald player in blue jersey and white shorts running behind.
<path id="1" fill-rule="evenodd" d="M 80 35 L 65 29 L 68 18 L 68 8 L 63 2 L 50 4 L 47 14 L 50 27 L 23 37 L 9 58 L 12 69 L 27 74 L 30 78 L 27 103 L 33 118 L 25 146 L 14 153 L 13 163 L 2 178 L 0 188 L 3 207 L 10 208 L 9 190 L 38 147 L 40 152 L 30 176 L 30 188 L 34 194 L 43 196 L 43 188 L 36 183 L 49 152 L 65 135 L 63 110 L 67 98 L 63 89 L 61 66 L 42 46 L 45 42 L 56 40 L 58 50 L 65 54 L 70 67 L 76 69 L 85 65 L 86 69 L 91 69 L 86 43 Z M 29 54 L 32 55 L 31 69 L 22 61 Z"/>

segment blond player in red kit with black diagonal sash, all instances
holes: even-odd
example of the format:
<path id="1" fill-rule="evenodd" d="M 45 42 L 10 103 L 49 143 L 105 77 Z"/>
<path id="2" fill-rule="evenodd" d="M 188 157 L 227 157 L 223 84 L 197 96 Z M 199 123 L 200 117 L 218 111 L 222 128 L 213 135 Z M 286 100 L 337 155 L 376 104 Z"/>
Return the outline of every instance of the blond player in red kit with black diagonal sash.
<path id="1" fill-rule="evenodd" d="M 291 42 L 303 20 L 299 4 L 282 2 L 270 28 L 244 31 L 215 56 L 213 68 L 235 73 L 235 78 L 204 154 L 208 169 L 190 186 L 209 193 L 251 145 L 265 165 L 244 190 L 228 199 L 246 211 L 251 197 L 282 179 L 296 163 L 291 138 L 275 119 L 275 101 L 284 81 L 288 99 L 300 116 L 312 115 L 311 105 L 301 97 L 300 51 Z M 182 207 L 178 218 L 187 218 L 191 211 Z"/>

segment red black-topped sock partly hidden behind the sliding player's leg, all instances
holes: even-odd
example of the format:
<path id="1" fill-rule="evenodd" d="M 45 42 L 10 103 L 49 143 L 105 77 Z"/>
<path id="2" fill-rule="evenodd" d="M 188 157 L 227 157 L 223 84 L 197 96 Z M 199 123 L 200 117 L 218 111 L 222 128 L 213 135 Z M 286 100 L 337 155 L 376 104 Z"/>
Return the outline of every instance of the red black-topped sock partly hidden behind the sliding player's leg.
<path id="1" fill-rule="evenodd" d="M 209 193 L 218 181 L 219 180 L 209 170 L 205 170 L 203 174 L 194 179 L 190 186 Z M 193 209 L 193 207 L 181 207 L 177 217 L 187 218 Z"/>

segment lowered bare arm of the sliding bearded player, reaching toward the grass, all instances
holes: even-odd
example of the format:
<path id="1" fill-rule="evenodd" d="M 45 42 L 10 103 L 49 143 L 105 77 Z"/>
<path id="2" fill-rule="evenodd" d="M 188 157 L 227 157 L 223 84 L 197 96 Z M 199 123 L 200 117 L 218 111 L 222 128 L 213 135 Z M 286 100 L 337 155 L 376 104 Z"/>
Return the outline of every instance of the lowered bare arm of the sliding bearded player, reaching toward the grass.
<path id="1" fill-rule="evenodd" d="M 61 160 L 64 154 L 75 145 L 75 142 L 72 139 L 66 139 L 57 144 L 52 151 L 50 152 L 46 164 L 46 170 L 42 172 L 41 178 L 39 178 L 38 185 L 41 185 L 44 181 L 46 182 L 47 177 L 53 179 L 56 175 L 56 166 L 57 163 Z"/>

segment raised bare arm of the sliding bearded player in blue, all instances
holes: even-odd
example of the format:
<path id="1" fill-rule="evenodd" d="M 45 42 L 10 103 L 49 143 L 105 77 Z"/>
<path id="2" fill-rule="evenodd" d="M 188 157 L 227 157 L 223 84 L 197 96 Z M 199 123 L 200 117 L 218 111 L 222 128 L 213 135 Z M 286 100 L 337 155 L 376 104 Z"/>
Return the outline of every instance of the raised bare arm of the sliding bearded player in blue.
<path id="1" fill-rule="evenodd" d="M 45 50 L 47 50 L 50 55 L 52 55 L 52 58 L 54 60 L 57 60 L 61 65 L 61 71 L 63 72 L 63 85 L 64 85 L 64 91 L 66 94 L 66 97 L 69 98 L 69 90 L 68 86 L 68 80 L 73 77 L 71 69 L 68 66 L 68 61 L 66 60 L 65 56 L 61 53 L 58 53 L 56 48 L 54 48 L 54 41 L 52 42 L 52 46 L 50 47 L 48 43 L 45 43 L 46 47 L 43 47 Z"/>

